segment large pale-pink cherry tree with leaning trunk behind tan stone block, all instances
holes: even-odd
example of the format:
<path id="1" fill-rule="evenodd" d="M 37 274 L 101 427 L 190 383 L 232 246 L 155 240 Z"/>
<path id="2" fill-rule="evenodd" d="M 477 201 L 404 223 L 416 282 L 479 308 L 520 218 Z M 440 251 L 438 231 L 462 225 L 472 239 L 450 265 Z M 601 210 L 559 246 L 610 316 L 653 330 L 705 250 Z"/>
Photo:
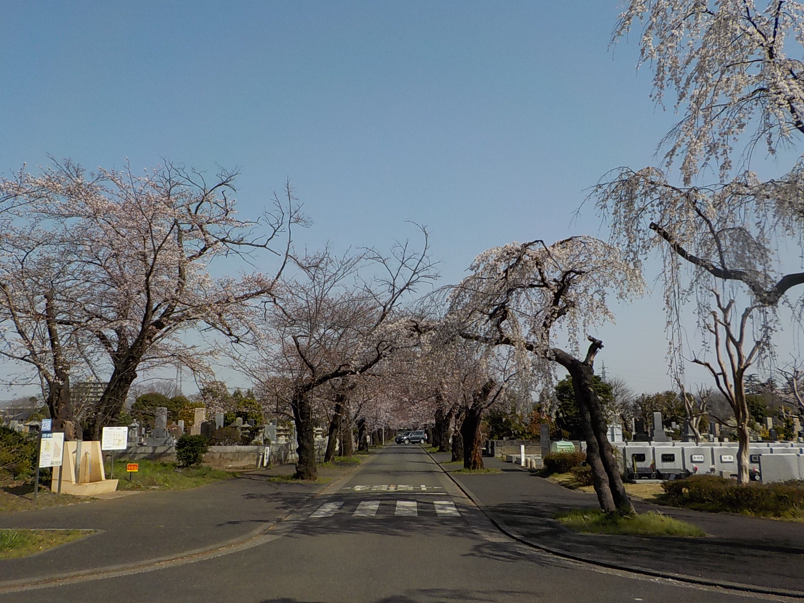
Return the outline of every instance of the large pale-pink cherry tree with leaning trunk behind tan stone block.
<path id="1" fill-rule="evenodd" d="M 17 206 L 3 237 L 10 251 L 0 260 L 12 267 L 4 276 L 13 274 L 27 252 L 31 232 L 46 241 L 35 249 L 37 261 L 59 264 L 62 280 L 71 286 L 28 293 L 52 293 L 48 303 L 59 313 L 56 324 L 103 355 L 110 372 L 88 417 L 89 437 L 99 438 L 100 430 L 116 420 L 138 370 L 166 362 L 203 367 L 199 350 L 184 343 L 181 334 L 207 326 L 236 336 L 232 318 L 250 302 L 273 294 L 291 227 L 303 218 L 289 187 L 286 199 L 274 195 L 273 208 L 259 219 L 240 218 L 232 197 L 235 178 L 236 173 L 222 171 L 209 179 L 173 164 L 143 174 L 130 167 L 88 173 L 65 161 L 39 174 L 21 170 L 0 180 L 0 199 Z M 278 256 L 275 273 L 215 278 L 209 272 L 221 260 L 231 264 L 234 257 L 259 252 Z M 7 303 L 0 307 L 6 317 L 12 312 Z M 31 310 L 26 318 L 33 328 L 45 317 Z M 17 343 L 26 345 L 17 334 Z"/>

